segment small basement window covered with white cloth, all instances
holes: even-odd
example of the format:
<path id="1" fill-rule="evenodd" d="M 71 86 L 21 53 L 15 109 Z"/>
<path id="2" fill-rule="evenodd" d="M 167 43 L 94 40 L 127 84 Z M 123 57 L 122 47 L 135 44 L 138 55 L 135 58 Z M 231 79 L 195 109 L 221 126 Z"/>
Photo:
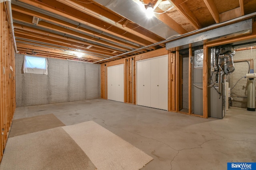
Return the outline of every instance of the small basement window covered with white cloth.
<path id="1" fill-rule="evenodd" d="M 48 61 L 45 57 L 26 56 L 23 63 L 24 73 L 48 75 Z"/>

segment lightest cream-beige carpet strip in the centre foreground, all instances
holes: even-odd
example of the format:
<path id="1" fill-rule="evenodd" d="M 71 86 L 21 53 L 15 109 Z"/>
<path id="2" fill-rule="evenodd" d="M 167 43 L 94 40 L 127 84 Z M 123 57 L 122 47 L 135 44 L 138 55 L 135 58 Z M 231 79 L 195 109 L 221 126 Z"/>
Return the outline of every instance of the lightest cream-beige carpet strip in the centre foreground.
<path id="1" fill-rule="evenodd" d="M 153 160 L 94 121 L 62 128 L 84 150 L 98 170 L 139 170 Z"/>

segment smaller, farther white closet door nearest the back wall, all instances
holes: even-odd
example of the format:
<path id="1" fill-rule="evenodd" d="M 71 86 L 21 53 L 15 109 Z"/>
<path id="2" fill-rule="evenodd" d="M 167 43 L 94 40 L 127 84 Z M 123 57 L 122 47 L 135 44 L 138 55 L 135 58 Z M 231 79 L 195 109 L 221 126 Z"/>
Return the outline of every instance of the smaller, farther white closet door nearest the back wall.
<path id="1" fill-rule="evenodd" d="M 108 100 L 124 102 L 124 64 L 108 67 Z"/>

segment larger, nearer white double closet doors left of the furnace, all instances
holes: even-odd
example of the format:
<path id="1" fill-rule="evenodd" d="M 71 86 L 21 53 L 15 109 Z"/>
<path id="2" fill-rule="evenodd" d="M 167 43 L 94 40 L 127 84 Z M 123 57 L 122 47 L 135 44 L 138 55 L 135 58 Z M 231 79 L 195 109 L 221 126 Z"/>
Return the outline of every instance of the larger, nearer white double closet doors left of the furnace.
<path id="1" fill-rule="evenodd" d="M 168 56 L 137 62 L 137 105 L 168 109 Z"/>

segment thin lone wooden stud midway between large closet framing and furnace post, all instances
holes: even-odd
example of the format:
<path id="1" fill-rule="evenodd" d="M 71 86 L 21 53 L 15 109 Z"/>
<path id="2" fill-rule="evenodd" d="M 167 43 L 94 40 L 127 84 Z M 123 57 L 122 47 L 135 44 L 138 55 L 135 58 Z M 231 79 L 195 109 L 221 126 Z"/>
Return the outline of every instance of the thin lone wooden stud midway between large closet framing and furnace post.
<path id="1" fill-rule="evenodd" d="M 188 114 L 192 114 L 192 47 L 188 49 Z"/>

